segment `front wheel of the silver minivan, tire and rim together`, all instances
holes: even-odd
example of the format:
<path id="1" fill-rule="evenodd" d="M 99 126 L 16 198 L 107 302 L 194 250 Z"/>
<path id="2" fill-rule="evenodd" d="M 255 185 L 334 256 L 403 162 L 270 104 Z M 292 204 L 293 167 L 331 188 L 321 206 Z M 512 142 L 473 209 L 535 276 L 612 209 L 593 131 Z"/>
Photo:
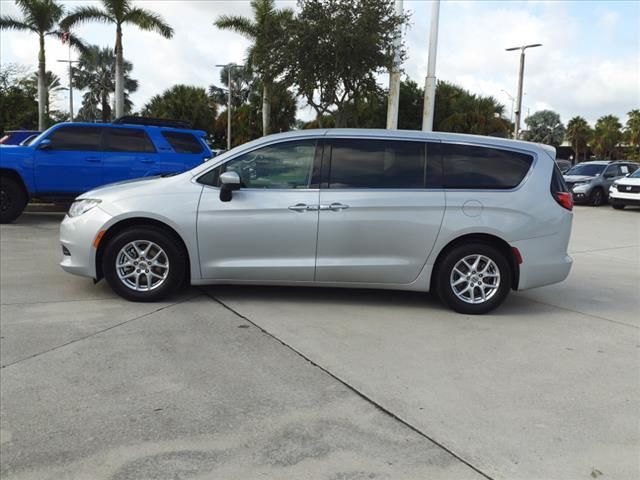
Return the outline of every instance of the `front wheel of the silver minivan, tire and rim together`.
<path id="1" fill-rule="evenodd" d="M 121 297 L 154 302 L 180 288 L 186 261 L 183 248 L 171 235 L 156 228 L 130 228 L 107 244 L 102 271 Z"/>

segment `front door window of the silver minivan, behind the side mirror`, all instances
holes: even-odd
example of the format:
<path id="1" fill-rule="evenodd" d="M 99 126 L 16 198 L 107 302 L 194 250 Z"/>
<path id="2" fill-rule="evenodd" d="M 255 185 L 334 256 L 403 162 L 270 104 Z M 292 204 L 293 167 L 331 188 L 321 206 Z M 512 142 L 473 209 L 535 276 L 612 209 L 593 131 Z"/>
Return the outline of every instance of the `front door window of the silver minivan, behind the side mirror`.
<path id="1" fill-rule="evenodd" d="M 315 150 L 315 140 L 258 148 L 206 173 L 199 182 L 220 186 L 218 178 L 221 173 L 236 172 L 240 176 L 241 188 L 310 188 Z"/>

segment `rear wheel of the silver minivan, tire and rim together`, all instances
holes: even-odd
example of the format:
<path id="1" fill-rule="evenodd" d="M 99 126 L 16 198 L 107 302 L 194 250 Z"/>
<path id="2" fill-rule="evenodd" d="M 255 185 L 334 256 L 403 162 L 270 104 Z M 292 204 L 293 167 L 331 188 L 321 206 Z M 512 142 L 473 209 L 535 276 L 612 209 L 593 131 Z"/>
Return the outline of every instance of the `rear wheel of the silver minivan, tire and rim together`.
<path id="1" fill-rule="evenodd" d="M 500 250 L 485 243 L 453 248 L 438 267 L 438 296 L 459 313 L 487 313 L 504 301 L 509 290 L 509 262 Z"/>

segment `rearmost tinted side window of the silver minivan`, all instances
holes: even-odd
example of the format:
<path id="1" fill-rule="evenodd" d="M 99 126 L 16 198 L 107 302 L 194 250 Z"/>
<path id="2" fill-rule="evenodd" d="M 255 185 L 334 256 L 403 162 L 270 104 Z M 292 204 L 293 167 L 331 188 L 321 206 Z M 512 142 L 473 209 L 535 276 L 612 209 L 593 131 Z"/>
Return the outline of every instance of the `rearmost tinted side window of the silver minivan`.
<path id="1" fill-rule="evenodd" d="M 445 188 L 509 189 L 522 182 L 533 157 L 524 153 L 442 143 Z"/>

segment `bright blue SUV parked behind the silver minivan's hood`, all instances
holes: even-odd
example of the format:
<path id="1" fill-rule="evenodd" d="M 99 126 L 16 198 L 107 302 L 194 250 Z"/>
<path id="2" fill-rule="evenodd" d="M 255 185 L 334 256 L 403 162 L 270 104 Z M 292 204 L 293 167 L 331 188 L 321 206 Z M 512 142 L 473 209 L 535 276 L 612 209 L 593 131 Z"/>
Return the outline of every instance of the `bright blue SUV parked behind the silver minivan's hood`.
<path id="1" fill-rule="evenodd" d="M 213 156 L 204 135 L 180 122 L 125 117 L 60 123 L 27 146 L 0 145 L 0 223 L 34 197 L 69 201 L 100 185 L 189 170 Z"/>

